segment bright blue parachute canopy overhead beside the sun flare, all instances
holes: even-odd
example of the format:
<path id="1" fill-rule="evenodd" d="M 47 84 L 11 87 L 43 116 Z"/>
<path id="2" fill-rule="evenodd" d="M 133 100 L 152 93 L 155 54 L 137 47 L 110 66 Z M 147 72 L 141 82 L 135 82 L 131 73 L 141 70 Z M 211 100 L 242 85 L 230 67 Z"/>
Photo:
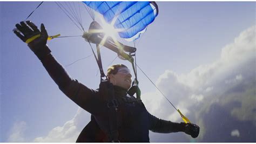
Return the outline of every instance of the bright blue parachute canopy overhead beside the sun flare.
<path id="1" fill-rule="evenodd" d="M 121 38 L 134 40 L 139 38 L 147 25 L 158 15 L 155 2 L 84 2 L 91 9 L 101 13 L 107 23 L 113 19 L 115 29 Z M 116 17 L 116 18 L 114 18 Z"/>

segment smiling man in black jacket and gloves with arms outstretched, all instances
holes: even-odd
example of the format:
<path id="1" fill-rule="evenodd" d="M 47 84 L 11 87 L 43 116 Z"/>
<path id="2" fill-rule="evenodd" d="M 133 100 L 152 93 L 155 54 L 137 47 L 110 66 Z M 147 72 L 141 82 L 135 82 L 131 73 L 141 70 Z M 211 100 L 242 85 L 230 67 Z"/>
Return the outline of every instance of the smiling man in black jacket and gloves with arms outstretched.
<path id="1" fill-rule="evenodd" d="M 125 65 L 111 66 L 107 70 L 108 80 L 102 81 L 98 90 L 92 90 L 71 79 L 52 56 L 46 45 L 48 33 L 43 24 L 41 31 L 30 21 L 16 24 L 16 27 L 14 33 L 28 43 L 59 89 L 92 114 L 77 142 L 149 142 L 149 130 L 157 133 L 185 132 L 197 138 L 197 125 L 158 119 L 147 112 L 141 100 L 127 94 L 132 76 Z"/>

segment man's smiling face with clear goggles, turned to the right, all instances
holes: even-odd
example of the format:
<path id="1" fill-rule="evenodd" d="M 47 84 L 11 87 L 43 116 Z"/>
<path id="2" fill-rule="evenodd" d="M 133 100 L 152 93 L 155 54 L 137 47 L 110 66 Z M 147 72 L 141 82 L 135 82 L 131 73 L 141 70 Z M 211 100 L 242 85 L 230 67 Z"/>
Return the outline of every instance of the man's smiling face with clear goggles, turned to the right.
<path id="1" fill-rule="evenodd" d="M 117 74 L 110 74 L 110 83 L 128 90 L 131 87 L 132 75 L 128 68 L 120 67 Z"/>

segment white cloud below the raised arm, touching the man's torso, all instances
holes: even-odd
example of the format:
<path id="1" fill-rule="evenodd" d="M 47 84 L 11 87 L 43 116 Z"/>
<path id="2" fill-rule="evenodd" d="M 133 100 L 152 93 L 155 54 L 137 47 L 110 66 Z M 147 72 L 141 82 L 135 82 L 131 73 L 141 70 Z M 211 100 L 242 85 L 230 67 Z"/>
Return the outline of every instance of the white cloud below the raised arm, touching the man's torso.
<path id="1" fill-rule="evenodd" d="M 78 108 L 72 120 L 67 121 L 63 126 L 53 128 L 48 135 L 38 137 L 33 142 L 75 142 L 87 124 L 88 116 L 82 108 Z"/>

